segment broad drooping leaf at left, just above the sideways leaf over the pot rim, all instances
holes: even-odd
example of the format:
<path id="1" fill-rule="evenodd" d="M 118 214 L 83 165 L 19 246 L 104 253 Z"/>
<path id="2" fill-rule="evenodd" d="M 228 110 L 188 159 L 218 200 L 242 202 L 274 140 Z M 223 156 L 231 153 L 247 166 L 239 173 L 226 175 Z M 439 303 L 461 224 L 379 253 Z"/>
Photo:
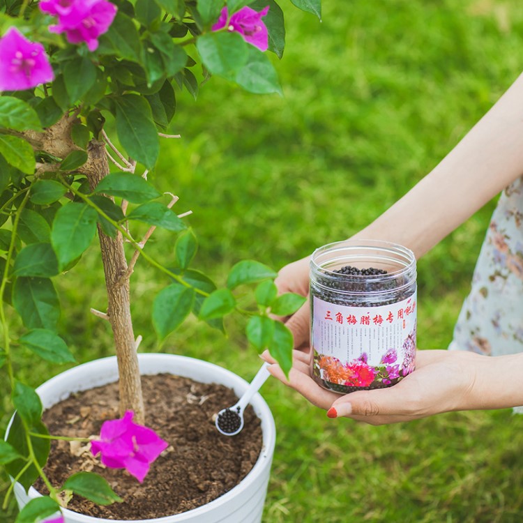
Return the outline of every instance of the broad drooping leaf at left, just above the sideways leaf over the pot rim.
<path id="1" fill-rule="evenodd" d="M 13 306 L 27 328 L 56 330 L 60 303 L 48 278 L 17 278 L 13 287 Z"/>

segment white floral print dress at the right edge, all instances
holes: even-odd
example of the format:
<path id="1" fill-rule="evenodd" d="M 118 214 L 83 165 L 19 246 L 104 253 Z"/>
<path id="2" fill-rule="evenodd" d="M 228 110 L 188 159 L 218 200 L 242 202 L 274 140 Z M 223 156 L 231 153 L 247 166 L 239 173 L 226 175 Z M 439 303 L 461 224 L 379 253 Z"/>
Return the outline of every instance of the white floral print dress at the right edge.
<path id="1" fill-rule="evenodd" d="M 499 198 L 448 348 L 523 352 L 523 176 Z"/>

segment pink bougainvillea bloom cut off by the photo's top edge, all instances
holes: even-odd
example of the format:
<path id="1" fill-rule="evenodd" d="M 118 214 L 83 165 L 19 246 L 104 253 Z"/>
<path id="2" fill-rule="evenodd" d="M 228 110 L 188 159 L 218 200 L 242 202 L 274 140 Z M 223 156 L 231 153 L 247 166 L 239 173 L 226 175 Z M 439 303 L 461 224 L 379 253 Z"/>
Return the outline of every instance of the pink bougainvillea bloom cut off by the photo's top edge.
<path id="1" fill-rule="evenodd" d="M 107 0 L 41 0 L 40 10 L 58 17 L 58 24 L 49 26 L 52 33 L 66 33 L 70 43 L 85 42 L 89 51 L 94 51 L 117 8 Z"/>

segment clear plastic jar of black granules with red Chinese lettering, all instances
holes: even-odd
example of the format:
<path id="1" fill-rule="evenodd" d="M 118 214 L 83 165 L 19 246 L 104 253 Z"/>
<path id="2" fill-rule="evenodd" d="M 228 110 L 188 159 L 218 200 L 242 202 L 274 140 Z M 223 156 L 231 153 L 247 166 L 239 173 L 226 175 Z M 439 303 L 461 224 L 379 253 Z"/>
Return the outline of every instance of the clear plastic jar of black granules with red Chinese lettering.
<path id="1" fill-rule="evenodd" d="M 311 376 L 338 393 L 384 388 L 416 358 L 416 258 L 386 241 L 324 245 L 310 261 Z"/>

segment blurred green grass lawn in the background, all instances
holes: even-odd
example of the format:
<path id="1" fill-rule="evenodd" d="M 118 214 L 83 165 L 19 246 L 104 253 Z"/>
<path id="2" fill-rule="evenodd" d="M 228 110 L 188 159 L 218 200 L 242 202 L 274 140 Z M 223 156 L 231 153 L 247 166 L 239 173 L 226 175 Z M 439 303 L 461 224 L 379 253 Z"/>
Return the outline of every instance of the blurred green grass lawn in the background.
<path id="1" fill-rule="evenodd" d="M 196 103 L 184 93 L 171 129 L 182 138 L 163 143 L 156 173 L 162 190 L 180 196 L 179 212 L 192 209 L 195 268 L 219 284 L 240 259 L 280 268 L 367 225 L 437 165 L 522 70 L 519 0 L 324 1 L 321 23 L 281 3 L 287 48 L 275 66 L 285 96 L 252 95 L 218 78 Z M 420 260 L 420 348 L 450 342 L 494 203 Z M 168 264 L 173 246 L 159 232 L 148 249 Z M 77 360 L 112 354 L 107 325 L 88 312 L 105 307 L 96 248 L 55 280 L 61 334 Z M 160 350 L 150 311 L 165 280 L 141 261 L 132 284 L 140 350 Z M 251 379 L 259 360 L 242 325 L 229 320 L 224 338 L 191 318 L 161 350 Z M 26 353 L 17 358 L 33 386 L 63 370 Z M 0 389 L 3 429 L 5 381 Z M 276 381 L 262 393 L 278 429 L 264 523 L 523 519 L 523 418 L 508 410 L 370 427 L 328 420 Z M 14 522 L 15 513 L 12 503 L 0 522 Z"/>

